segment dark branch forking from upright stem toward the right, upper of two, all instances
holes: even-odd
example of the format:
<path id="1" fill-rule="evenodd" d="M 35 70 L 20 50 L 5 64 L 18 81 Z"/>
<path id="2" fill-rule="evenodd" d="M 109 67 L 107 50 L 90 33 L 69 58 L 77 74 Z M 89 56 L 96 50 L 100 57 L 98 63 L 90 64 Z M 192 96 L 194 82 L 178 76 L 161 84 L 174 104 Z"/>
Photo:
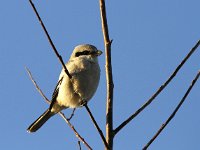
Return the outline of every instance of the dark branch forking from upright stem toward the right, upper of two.
<path id="1" fill-rule="evenodd" d="M 187 56 L 182 60 L 182 62 L 178 65 L 172 75 L 167 79 L 167 81 L 160 86 L 160 88 L 152 95 L 152 97 L 146 101 L 136 112 L 134 112 L 128 119 L 126 119 L 123 123 L 121 123 L 115 130 L 114 134 L 116 135 L 123 127 L 125 127 L 133 118 L 135 118 L 140 112 L 142 112 L 151 102 L 163 91 L 163 89 L 170 83 L 170 81 L 176 76 L 181 67 L 185 64 L 185 62 L 190 58 L 190 56 L 195 52 L 195 50 L 200 45 L 200 40 L 195 44 L 195 46 L 190 50 Z"/>

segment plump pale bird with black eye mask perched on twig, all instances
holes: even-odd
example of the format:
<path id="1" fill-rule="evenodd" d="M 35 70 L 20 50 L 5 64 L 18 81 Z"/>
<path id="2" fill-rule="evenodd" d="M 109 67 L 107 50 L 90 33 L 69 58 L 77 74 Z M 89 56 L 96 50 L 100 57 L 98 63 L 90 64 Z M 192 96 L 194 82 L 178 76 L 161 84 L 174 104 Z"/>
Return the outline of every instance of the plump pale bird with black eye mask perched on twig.
<path id="1" fill-rule="evenodd" d="M 90 44 L 81 44 L 74 48 L 69 61 L 65 64 L 71 78 L 63 68 L 49 108 L 28 127 L 29 133 L 36 132 L 61 110 L 81 107 L 93 97 L 100 80 L 98 56 L 101 54 L 101 50 Z"/>

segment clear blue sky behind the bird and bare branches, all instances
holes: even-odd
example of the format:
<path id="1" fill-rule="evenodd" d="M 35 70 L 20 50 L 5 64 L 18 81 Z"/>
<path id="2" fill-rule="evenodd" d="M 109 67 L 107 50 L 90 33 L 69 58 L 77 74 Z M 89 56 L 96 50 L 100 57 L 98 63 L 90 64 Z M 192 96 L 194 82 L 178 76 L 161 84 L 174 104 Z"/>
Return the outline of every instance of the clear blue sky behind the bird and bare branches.
<path id="1" fill-rule="evenodd" d="M 65 62 L 77 44 L 104 50 L 99 3 L 34 1 Z M 114 75 L 114 127 L 139 108 L 169 77 L 200 39 L 199 0 L 107 1 Z M 37 133 L 26 128 L 48 107 L 35 90 L 27 66 L 48 98 L 61 65 L 53 53 L 28 0 L 3 0 L 0 5 L 0 149 L 78 149 L 77 138 L 59 115 Z M 101 81 L 89 106 L 105 133 L 105 61 Z M 125 127 L 114 149 L 141 149 L 170 115 L 200 69 L 200 48 L 157 99 Z M 183 107 L 151 145 L 153 150 L 200 149 L 200 81 Z M 66 115 L 71 110 L 64 111 Z M 85 108 L 73 125 L 95 150 L 103 149 Z M 82 145 L 82 149 L 86 149 Z"/>

